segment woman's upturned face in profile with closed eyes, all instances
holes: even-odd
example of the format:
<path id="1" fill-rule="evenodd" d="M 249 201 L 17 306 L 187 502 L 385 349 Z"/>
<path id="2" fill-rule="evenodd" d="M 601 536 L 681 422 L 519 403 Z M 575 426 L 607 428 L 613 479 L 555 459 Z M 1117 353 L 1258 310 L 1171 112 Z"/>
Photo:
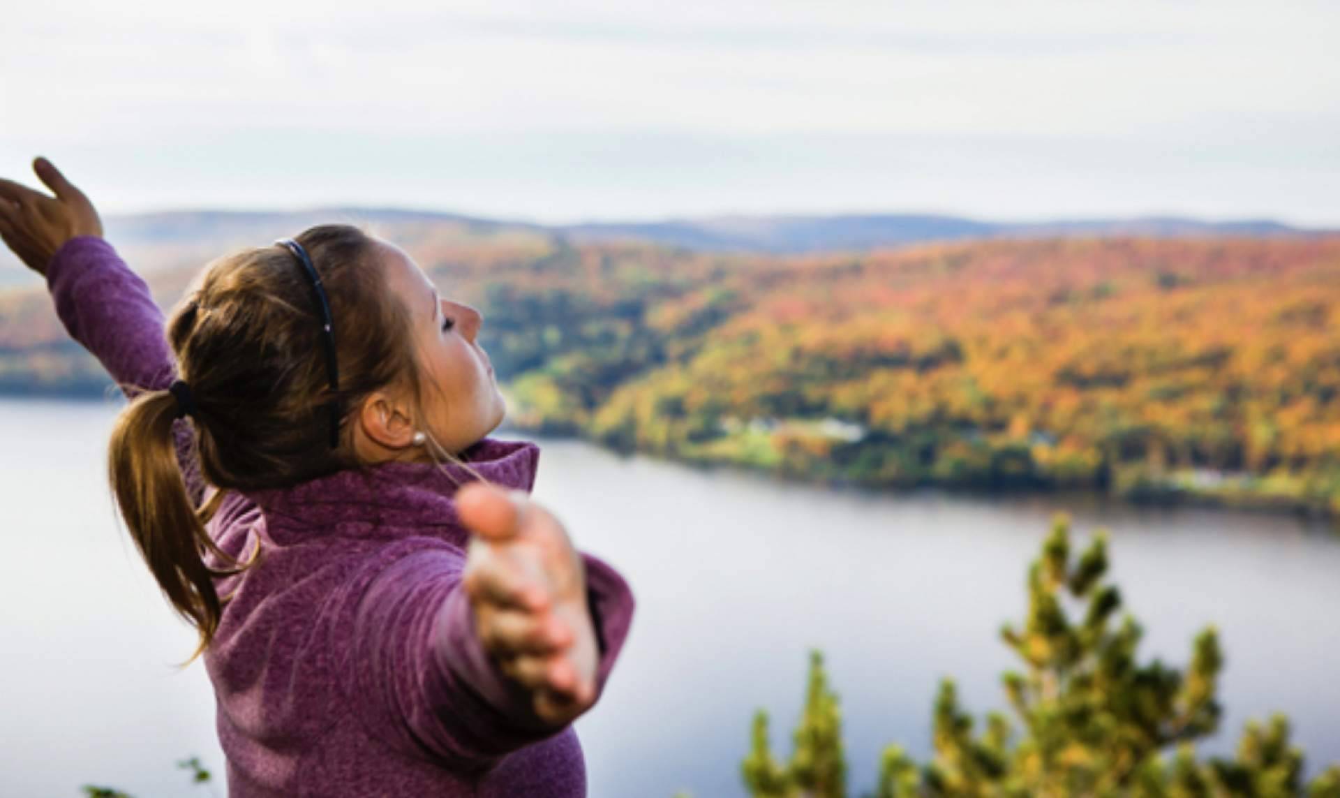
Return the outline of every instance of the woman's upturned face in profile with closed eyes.
<path id="1" fill-rule="evenodd" d="M 480 311 L 438 296 L 423 270 L 403 251 L 377 240 L 387 287 L 410 317 L 410 339 L 422 369 L 422 410 L 415 428 L 453 455 L 478 441 L 507 414 L 489 355 L 474 343 Z M 427 459 L 427 449 L 423 449 Z"/>

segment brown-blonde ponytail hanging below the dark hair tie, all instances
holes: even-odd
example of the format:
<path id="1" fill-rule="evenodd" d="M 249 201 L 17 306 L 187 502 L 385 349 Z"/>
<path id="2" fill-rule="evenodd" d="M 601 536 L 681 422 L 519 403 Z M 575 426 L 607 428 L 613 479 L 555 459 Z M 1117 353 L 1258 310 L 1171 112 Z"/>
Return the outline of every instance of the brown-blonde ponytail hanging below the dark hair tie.
<path id="1" fill-rule="evenodd" d="M 107 472 L 135 547 L 173 609 L 200 632 L 200 645 L 190 656 L 194 660 L 213 640 L 222 614 L 213 578 L 240 573 L 249 562 L 239 563 L 205 531 L 222 492 L 200 508 L 192 503 L 177 463 L 176 412 L 177 400 L 166 390 L 131 400 L 111 432 Z M 206 553 L 232 567 L 209 567 Z"/>

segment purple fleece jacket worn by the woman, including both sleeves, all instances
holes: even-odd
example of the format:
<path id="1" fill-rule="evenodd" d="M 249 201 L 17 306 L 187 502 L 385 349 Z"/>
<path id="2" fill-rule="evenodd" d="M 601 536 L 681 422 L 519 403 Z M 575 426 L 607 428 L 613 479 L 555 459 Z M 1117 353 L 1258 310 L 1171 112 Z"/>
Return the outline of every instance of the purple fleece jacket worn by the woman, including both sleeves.
<path id="1" fill-rule="evenodd" d="M 118 384 L 169 385 L 162 314 L 110 244 L 72 239 L 47 282 L 66 329 Z M 189 424 L 176 435 L 198 502 L 213 488 L 200 479 Z M 462 459 L 529 492 L 539 455 L 532 443 L 484 439 Z M 236 593 L 204 654 L 229 795 L 586 794 L 576 732 L 541 723 L 474 633 L 452 479 L 473 477 L 449 472 L 389 463 L 224 499 L 210 536 L 237 558 L 263 549 L 249 570 L 217 582 L 221 595 Z M 607 565 L 583 561 L 603 688 L 632 595 Z"/>

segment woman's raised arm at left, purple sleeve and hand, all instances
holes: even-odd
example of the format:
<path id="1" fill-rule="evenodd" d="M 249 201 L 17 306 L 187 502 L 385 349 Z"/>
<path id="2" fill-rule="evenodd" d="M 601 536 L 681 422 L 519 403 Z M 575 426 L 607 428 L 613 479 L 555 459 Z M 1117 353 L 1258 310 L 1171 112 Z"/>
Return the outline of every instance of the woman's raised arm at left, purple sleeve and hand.
<path id="1" fill-rule="evenodd" d="M 0 239 L 47 278 L 66 330 L 127 396 L 166 389 L 176 365 L 149 287 L 103 240 L 102 220 L 88 197 L 46 158 L 32 168 L 55 197 L 0 178 Z M 198 504 L 205 484 L 190 428 L 178 422 L 174 435 L 186 490 Z"/>

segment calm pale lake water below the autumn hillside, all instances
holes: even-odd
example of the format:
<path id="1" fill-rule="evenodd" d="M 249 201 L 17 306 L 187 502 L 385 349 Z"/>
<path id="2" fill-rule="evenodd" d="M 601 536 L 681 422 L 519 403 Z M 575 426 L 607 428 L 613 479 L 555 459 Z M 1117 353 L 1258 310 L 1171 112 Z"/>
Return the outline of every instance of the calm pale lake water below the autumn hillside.
<path id="1" fill-rule="evenodd" d="M 72 798 L 88 782 L 205 795 L 174 762 L 222 770 L 204 668 L 174 668 L 194 634 L 115 520 L 103 460 L 117 408 L 0 400 L 3 795 Z M 851 791 L 870 789 L 886 743 L 929 750 L 942 676 L 976 714 L 1002 705 L 998 675 L 1013 663 L 998 629 L 1021 616 L 1025 566 L 1056 510 L 1079 542 L 1111 531 L 1143 656 L 1182 665 L 1191 636 L 1218 626 L 1226 714 L 1210 750 L 1278 709 L 1309 771 L 1340 762 L 1340 538 L 1324 526 L 1083 498 L 831 491 L 539 444 L 536 496 L 639 601 L 607 692 L 578 724 L 595 797 L 741 795 L 753 712 L 772 712 L 773 747 L 789 751 L 813 646 L 842 697 Z"/>

